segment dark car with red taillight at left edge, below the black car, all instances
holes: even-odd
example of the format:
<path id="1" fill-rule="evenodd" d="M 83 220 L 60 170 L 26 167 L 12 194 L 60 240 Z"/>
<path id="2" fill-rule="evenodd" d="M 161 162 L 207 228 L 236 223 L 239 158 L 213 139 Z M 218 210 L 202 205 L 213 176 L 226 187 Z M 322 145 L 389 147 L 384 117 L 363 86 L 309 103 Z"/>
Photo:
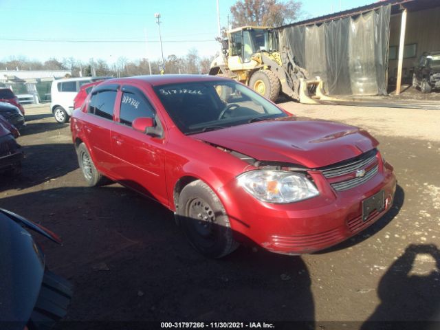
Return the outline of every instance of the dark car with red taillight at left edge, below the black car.
<path id="1" fill-rule="evenodd" d="M 21 160 L 23 151 L 15 140 L 20 133 L 14 125 L 10 124 L 0 115 L 0 172 L 5 171 L 12 176 L 21 173 Z"/>

